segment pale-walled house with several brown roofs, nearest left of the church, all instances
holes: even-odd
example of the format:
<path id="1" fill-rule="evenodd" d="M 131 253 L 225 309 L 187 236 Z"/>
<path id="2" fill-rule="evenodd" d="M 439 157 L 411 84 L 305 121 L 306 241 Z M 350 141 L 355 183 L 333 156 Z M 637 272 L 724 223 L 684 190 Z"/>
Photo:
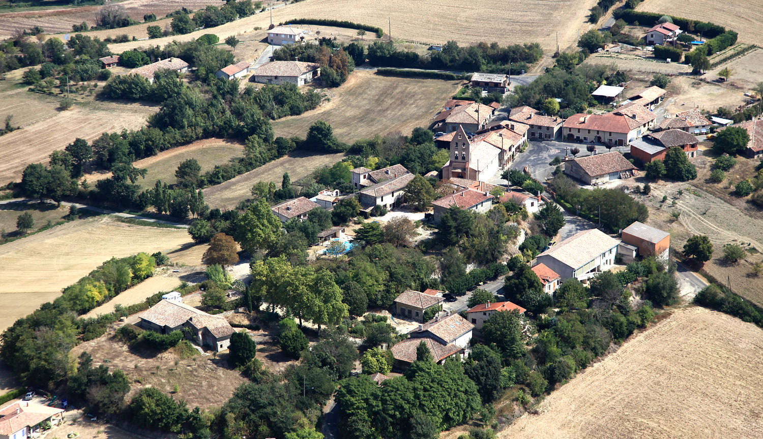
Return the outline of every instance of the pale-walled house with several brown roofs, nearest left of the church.
<path id="1" fill-rule="evenodd" d="M 351 171 L 353 187 L 360 189 L 358 200 L 365 211 L 383 206 L 387 210 L 398 207 L 405 194 L 405 187 L 414 179 L 403 165 L 371 171 L 369 168 L 355 168 Z"/>

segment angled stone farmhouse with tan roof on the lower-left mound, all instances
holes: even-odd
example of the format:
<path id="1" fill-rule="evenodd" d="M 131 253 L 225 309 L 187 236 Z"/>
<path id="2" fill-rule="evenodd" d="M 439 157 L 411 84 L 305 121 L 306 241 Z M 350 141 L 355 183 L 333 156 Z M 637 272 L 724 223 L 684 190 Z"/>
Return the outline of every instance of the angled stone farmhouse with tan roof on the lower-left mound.
<path id="1" fill-rule="evenodd" d="M 138 317 L 143 328 L 159 334 L 182 331 L 196 344 L 206 344 L 217 352 L 228 348 L 233 335 L 233 328 L 224 317 L 211 316 L 172 300 L 162 300 Z"/>

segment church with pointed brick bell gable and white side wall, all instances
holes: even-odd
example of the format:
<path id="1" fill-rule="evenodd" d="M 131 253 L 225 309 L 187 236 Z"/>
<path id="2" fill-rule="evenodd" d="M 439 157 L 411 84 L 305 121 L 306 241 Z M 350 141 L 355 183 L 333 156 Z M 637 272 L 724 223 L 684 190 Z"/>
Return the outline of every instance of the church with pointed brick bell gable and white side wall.
<path id="1" fill-rule="evenodd" d="M 450 141 L 450 160 L 443 166 L 443 179 L 489 180 L 501 168 L 502 153 L 503 149 L 483 139 L 470 139 L 459 127 Z"/>

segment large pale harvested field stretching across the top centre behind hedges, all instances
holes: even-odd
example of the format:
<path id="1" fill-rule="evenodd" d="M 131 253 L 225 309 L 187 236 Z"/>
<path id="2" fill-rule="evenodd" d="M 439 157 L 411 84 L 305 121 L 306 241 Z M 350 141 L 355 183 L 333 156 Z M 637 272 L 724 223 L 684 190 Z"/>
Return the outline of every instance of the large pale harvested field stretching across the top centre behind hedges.
<path id="1" fill-rule="evenodd" d="M 547 52 L 553 52 L 556 50 L 557 30 L 562 50 L 575 46 L 578 34 L 591 27 L 585 21 L 588 9 L 595 4 L 595 0 L 484 0 L 472 3 L 456 0 L 304 0 L 273 9 L 272 13 L 275 24 L 288 23 L 294 18 L 331 18 L 378 26 L 386 34 L 389 20 L 392 37 L 396 40 L 427 44 L 443 44 L 449 40 L 464 44 L 495 41 L 501 45 L 537 42 Z M 214 27 L 213 33 L 224 40 L 230 35 L 249 32 L 253 27 L 267 29 L 269 24 L 269 13 L 263 12 Z M 119 33 L 130 35 L 130 27 L 124 30 Z M 151 44 L 163 46 L 172 43 L 172 40 L 192 40 L 209 31 L 163 37 L 151 40 Z M 366 39 L 370 37 L 373 36 L 367 35 Z M 111 44 L 110 47 L 115 53 L 121 53 L 145 45 L 145 41 L 130 41 Z"/>

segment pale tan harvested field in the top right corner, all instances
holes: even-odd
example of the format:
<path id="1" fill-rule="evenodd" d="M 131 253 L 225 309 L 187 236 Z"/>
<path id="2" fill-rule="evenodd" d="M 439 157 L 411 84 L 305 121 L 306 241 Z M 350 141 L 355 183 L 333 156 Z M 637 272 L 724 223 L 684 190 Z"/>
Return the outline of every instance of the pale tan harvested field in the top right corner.
<path id="1" fill-rule="evenodd" d="M 763 45 L 763 2 L 749 0 L 645 0 L 636 6 L 639 11 L 669 14 L 674 17 L 710 21 L 739 33 L 742 43 Z"/>

